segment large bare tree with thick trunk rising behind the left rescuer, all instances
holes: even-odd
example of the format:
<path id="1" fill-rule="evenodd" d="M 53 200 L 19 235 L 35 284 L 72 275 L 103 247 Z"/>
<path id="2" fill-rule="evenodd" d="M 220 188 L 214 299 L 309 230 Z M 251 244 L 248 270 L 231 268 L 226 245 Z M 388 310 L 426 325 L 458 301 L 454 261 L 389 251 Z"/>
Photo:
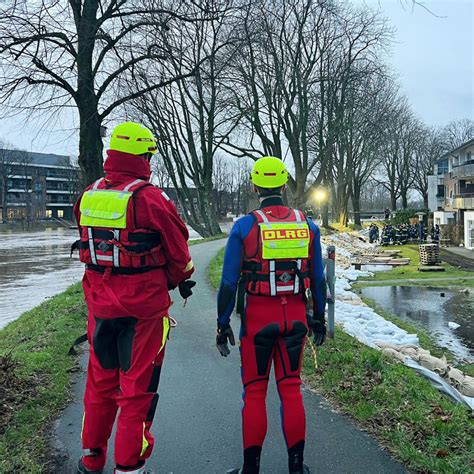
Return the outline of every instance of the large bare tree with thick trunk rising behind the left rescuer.
<path id="1" fill-rule="evenodd" d="M 203 5 L 201 8 L 200 5 Z M 192 15 L 189 12 L 192 10 Z M 101 127 L 129 101 L 194 73 L 162 75 L 130 89 L 125 77 L 173 59 L 176 27 L 209 15 L 199 0 L 12 0 L 0 6 L 0 101 L 15 111 L 79 115 L 85 183 L 102 174 Z"/>

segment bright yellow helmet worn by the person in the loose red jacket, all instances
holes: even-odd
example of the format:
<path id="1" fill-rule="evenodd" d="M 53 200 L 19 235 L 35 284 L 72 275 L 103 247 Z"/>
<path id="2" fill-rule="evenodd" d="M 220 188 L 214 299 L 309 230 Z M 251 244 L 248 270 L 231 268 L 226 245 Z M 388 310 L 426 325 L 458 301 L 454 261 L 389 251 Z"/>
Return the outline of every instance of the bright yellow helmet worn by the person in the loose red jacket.
<path id="1" fill-rule="evenodd" d="M 110 138 L 110 149 L 129 153 L 130 155 L 143 155 L 156 153 L 156 138 L 153 132 L 135 122 L 124 122 L 117 125 Z"/>

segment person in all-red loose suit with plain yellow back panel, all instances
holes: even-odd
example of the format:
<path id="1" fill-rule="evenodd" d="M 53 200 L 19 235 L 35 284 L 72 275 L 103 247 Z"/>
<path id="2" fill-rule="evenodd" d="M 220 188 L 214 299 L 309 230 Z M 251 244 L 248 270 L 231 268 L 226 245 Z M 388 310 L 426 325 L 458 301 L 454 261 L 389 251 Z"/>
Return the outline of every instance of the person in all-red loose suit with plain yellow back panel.
<path id="1" fill-rule="evenodd" d="M 74 212 L 86 264 L 90 345 L 79 473 L 101 473 L 117 411 L 116 473 L 145 473 L 170 328 L 169 289 L 192 294 L 188 231 L 169 197 L 150 182 L 156 141 L 132 122 L 115 128 L 105 178 Z"/>

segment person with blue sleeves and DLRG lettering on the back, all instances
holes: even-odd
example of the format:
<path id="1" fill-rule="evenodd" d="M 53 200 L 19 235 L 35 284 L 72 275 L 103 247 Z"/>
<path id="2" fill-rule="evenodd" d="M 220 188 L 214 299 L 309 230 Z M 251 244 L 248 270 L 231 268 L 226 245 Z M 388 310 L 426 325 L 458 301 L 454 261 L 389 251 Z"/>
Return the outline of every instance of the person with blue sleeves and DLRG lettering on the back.
<path id="1" fill-rule="evenodd" d="M 228 342 L 235 345 L 229 323 L 236 294 L 241 315 L 244 464 L 228 473 L 259 472 L 272 362 L 288 470 L 309 473 L 303 463 L 306 421 L 300 372 L 308 325 L 317 346 L 326 335 L 320 232 L 302 212 L 283 204 L 281 192 L 288 171 L 281 160 L 261 158 L 254 164 L 251 179 L 260 208 L 240 218 L 231 230 L 218 294 L 216 343 L 223 356 L 230 353 Z M 307 316 L 307 292 L 312 294 L 312 316 Z"/>

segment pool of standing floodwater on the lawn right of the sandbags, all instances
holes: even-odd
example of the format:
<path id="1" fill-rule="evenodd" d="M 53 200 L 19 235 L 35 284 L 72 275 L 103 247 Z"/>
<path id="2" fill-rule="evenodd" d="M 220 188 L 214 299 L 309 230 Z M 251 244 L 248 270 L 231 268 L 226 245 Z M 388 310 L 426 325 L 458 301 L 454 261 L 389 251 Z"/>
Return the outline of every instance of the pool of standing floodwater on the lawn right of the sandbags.
<path id="1" fill-rule="evenodd" d="M 372 286 L 362 294 L 398 318 L 421 325 L 457 357 L 474 362 L 474 294 L 448 288 Z M 442 296 L 444 295 L 444 296 Z M 452 321 L 460 325 L 451 329 Z"/>

